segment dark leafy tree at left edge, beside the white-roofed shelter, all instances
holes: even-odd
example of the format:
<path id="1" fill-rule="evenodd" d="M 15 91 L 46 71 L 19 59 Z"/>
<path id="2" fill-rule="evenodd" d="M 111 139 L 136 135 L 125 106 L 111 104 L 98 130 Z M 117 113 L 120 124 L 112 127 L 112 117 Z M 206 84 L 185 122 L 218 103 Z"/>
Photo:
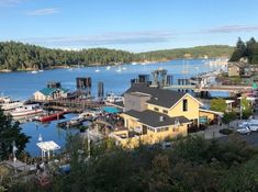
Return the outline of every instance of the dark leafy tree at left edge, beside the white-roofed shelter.
<path id="1" fill-rule="evenodd" d="M 21 132 L 20 124 L 13 122 L 10 115 L 4 115 L 0 109 L 0 160 L 7 159 L 12 154 L 12 143 L 15 142 L 18 156 L 25 148 L 30 137 Z"/>

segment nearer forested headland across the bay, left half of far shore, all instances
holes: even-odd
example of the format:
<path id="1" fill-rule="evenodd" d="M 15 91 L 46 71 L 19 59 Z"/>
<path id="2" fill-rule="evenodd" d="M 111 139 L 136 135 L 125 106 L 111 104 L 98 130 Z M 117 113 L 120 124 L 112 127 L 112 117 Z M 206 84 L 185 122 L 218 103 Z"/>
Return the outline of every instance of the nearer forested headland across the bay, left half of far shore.
<path id="1" fill-rule="evenodd" d="M 0 43 L 0 69 L 26 70 L 58 66 L 131 63 L 128 52 L 90 48 L 81 50 L 51 49 L 16 42 Z"/>

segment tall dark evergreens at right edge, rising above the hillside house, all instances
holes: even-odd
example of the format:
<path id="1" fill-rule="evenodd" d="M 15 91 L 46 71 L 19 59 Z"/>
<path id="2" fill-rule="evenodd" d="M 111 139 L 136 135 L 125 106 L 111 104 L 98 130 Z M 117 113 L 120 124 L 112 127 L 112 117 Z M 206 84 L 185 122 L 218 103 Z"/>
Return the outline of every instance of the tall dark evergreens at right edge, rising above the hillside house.
<path id="1" fill-rule="evenodd" d="M 258 42 L 254 37 L 246 43 L 238 37 L 235 50 L 229 60 L 239 61 L 242 58 L 247 58 L 249 64 L 258 64 Z"/>

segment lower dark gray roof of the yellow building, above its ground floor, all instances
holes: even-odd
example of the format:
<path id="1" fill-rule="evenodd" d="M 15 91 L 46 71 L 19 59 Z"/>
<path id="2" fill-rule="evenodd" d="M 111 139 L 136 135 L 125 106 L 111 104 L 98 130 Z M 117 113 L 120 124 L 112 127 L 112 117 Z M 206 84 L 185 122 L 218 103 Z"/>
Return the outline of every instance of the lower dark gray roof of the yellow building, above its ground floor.
<path id="1" fill-rule="evenodd" d="M 177 116 L 177 117 L 170 117 L 168 115 L 154 112 L 150 110 L 145 110 L 143 112 L 130 110 L 125 112 L 124 114 L 133 116 L 137 118 L 141 123 L 149 125 L 152 127 L 159 127 L 159 126 L 168 126 L 173 125 L 175 121 L 178 118 L 180 123 L 188 123 L 190 120 L 188 120 L 184 116 Z M 160 116 L 164 117 L 164 121 L 160 121 Z"/>

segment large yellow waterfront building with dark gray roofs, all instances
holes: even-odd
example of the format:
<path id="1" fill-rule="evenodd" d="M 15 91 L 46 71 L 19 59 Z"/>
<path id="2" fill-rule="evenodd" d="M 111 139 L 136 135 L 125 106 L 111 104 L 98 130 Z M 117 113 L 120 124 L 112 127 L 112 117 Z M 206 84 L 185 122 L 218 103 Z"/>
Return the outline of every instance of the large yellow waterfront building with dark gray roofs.
<path id="1" fill-rule="evenodd" d="M 189 93 L 134 84 L 124 93 L 124 126 L 111 137 L 124 147 L 154 144 L 186 136 L 188 127 L 199 125 L 201 103 Z"/>

